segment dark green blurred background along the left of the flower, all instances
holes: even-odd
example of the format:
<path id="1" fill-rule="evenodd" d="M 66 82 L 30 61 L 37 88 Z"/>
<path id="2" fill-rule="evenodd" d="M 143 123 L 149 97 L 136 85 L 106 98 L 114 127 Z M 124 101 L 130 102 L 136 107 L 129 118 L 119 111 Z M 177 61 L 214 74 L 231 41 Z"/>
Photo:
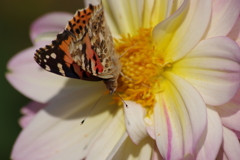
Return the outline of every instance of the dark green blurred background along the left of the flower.
<path id="1" fill-rule="evenodd" d="M 36 18 L 54 11 L 74 13 L 82 7 L 83 0 L 9 0 L 0 2 L 1 160 L 10 159 L 11 148 L 21 131 L 18 125 L 18 119 L 21 116 L 20 108 L 30 101 L 5 79 L 7 62 L 13 55 L 32 46 L 29 27 Z"/>

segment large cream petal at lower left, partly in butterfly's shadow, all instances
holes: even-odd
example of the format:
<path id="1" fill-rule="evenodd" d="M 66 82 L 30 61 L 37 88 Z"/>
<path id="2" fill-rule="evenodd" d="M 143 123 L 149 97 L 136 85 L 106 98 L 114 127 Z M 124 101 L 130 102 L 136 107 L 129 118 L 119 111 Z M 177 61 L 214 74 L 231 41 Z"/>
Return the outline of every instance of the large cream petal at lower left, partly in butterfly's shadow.
<path id="1" fill-rule="evenodd" d="M 21 132 L 13 147 L 12 159 L 84 158 L 90 146 L 101 138 L 100 135 L 116 116 L 114 111 L 117 106 L 109 105 L 112 100 L 106 95 L 85 123 L 80 125 L 89 113 L 89 107 L 94 105 L 100 95 L 101 90 L 95 90 L 94 94 L 88 90 L 80 90 L 66 99 L 49 102 L 49 105 L 39 111 L 33 121 Z"/>

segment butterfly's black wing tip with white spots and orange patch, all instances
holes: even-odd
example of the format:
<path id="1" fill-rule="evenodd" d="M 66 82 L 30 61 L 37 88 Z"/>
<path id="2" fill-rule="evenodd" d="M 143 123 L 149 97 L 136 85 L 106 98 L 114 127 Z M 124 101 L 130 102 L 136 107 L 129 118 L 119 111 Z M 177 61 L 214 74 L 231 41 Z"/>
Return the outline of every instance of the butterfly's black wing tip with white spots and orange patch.
<path id="1" fill-rule="evenodd" d="M 52 41 L 51 45 L 36 50 L 35 61 L 43 69 L 61 76 L 90 81 L 102 80 L 86 72 L 74 62 L 69 52 L 71 41 L 71 33 L 64 30 L 57 35 L 57 39 Z"/>

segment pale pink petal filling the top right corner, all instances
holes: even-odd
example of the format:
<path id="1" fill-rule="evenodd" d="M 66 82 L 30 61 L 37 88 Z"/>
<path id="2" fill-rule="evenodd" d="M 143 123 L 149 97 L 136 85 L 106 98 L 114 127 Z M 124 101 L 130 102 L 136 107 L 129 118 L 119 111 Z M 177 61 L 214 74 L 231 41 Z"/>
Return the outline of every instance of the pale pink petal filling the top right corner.
<path id="1" fill-rule="evenodd" d="M 239 16 L 239 0 L 213 0 L 212 17 L 206 38 L 226 36 Z"/>

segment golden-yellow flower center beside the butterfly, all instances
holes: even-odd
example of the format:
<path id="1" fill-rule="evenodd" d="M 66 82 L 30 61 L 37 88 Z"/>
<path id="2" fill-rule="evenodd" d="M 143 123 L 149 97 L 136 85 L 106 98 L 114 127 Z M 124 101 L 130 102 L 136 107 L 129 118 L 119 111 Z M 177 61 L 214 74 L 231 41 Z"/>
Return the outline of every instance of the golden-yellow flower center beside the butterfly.
<path id="1" fill-rule="evenodd" d="M 161 91 L 162 72 L 171 67 L 155 49 L 151 31 L 140 29 L 137 35 L 115 40 L 122 65 L 117 92 L 124 100 L 135 101 L 150 110 L 155 103 L 155 93 Z M 119 99 L 118 102 L 121 104 Z"/>

